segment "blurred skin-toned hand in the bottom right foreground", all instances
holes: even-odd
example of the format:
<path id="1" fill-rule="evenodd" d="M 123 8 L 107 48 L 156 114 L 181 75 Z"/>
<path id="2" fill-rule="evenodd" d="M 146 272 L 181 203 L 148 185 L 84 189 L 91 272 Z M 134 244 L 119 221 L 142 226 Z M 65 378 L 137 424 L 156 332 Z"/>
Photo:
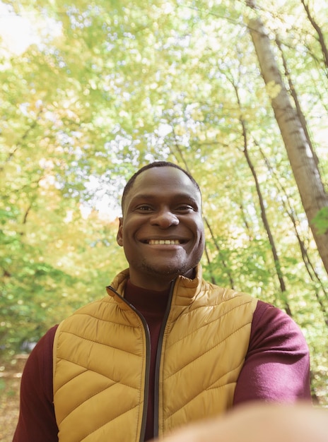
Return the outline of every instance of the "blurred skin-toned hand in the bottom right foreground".
<path id="1" fill-rule="evenodd" d="M 328 442 L 328 410 L 254 402 L 185 426 L 163 442 Z"/>

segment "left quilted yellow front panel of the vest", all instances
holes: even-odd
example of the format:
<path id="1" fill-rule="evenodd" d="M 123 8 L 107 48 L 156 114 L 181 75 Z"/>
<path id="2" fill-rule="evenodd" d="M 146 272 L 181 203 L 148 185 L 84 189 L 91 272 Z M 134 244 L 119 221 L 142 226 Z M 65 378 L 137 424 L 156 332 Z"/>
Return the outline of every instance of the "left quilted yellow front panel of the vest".
<path id="1" fill-rule="evenodd" d="M 89 304 L 59 325 L 54 346 L 59 441 L 139 441 L 146 335 L 136 313 L 111 297 Z"/>

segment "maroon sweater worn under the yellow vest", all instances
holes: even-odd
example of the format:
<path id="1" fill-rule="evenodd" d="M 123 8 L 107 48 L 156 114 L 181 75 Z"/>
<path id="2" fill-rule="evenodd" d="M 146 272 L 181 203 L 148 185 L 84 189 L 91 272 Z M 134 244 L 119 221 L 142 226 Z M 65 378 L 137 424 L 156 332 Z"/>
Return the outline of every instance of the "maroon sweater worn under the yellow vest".
<path id="1" fill-rule="evenodd" d="M 156 349 L 168 292 L 127 284 L 126 299 L 144 315 L 151 333 L 151 371 L 145 441 L 153 437 Z M 58 442 L 52 391 L 52 345 L 57 325 L 37 343 L 21 380 L 20 416 L 13 442 Z M 310 400 L 310 362 L 305 339 L 283 311 L 259 301 L 250 345 L 235 388 L 234 405 L 251 400 Z"/>

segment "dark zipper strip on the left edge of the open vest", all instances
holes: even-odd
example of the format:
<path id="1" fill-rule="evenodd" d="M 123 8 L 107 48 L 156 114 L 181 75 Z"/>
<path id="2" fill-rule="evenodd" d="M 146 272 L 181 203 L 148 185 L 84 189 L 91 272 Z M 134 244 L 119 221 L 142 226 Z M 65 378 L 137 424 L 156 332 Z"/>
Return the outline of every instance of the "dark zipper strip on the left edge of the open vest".
<path id="1" fill-rule="evenodd" d="M 141 431 L 140 431 L 140 438 L 139 442 L 144 442 L 145 438 L 145 432 L 146 432 L 146 419 L 147 419 L 147 408 L 148 408 L 148 393 L 149 393 L 149 371 L 151 368 L 151 333 L 149 331 L 148 324 L 146 323 L 146 319 L 144 316 L 141 315 L 141 313 L 136 309 L 136 307 L 133 304 L 130 304 L 127 299 L 124 299 L 117 291 L 109 285 L 107 287 L 112 292 L 117 294 L 117 296 L 122 299 L 122 301 L 125 302 L 133 311 L 136 313 L 136 315 L 139 316 L 141 319 L 141 322 L 144 325 L 144 332 L 146 335 L 146 372 L 145 372 L 145 388 L 144 388 L 144 410 L 142 412 L 142 422 L 141 422 Z"/>

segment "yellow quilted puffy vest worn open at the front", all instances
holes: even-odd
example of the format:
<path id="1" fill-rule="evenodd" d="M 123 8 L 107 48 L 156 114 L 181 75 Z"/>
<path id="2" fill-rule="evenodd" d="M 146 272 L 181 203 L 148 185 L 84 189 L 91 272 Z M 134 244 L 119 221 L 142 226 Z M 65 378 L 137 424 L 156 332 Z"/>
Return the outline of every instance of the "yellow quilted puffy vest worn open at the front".
<path id="1" fill-rule="evenodd" d="M 64 320 L 54 339 L 59 442 L 144 440 L 148 331 L 127 304 L 128 271 L 111 296 Z M 233 404 L 257 301 L 201 278 L 178 277 L 158 351 L 155 434 L 222 413 Z"/>

